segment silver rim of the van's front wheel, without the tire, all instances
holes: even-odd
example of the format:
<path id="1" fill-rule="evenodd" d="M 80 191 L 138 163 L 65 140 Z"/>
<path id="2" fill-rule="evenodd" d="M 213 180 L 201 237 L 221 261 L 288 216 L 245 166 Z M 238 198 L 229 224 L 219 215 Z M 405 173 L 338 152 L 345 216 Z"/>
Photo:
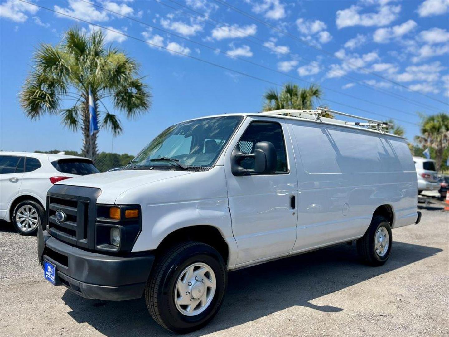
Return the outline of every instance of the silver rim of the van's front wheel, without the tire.
<path id="1" fill-rule="evenodd" d="M 205 263 L 185 268 L 175 284 L 175 304 L 186 316 L 202 313 L 211 304 L 216 289 L 214 271 Z"/>

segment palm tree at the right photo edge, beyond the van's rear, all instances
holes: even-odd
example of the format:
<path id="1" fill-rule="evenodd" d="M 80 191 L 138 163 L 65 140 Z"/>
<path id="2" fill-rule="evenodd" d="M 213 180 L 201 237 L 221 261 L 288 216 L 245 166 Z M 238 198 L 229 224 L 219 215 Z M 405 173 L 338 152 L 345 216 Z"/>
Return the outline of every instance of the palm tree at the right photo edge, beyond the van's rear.
<path id="1" fill-rule="evenodd" d="M 435 149 L 436 170 L 439 171 L 443 161 L 443 152 L 449 146 L 449 115 L 440 113 L 422 116 L 421 136 L 415 136 L 415 141 L 424 147 Z"/>

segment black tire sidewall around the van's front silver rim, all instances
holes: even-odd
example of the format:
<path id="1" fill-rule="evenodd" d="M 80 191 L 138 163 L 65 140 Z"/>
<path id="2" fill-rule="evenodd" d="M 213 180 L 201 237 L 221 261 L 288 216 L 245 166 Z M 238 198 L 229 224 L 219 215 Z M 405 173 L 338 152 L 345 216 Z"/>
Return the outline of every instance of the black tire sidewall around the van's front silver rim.
<path id="1" fill-rule="evenodd" d="M 206 263 L 212 268 L 216 277 L 216 290 L 212 302 L 206 310 L 195 316 L 186 316 L 176 308 L 174 289 L 180 273 L 193 263 Z M 207 245 L 188 248 L 172 262 L 172 266 L 167 269 L 162 278 L 162 292 L 159 293 L 159 310 L 165 320 L 167 327 L 175 332 L 186 333 L 196 330 L 206 325 L 218 312 L 226 290 L 226 267 L 221 257 L 215 249 Z"/>

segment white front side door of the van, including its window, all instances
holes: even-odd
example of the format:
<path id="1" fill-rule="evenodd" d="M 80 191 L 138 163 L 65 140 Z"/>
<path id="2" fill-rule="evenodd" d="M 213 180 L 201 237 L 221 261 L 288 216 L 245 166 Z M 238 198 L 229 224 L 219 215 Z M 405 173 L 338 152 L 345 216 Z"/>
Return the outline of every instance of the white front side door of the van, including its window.
<path id="1" fill-rule="evenodd" d="M 273 143 L 277 172 L 234 176 L 233 149 L 238 147 L 250 154 L 256 142 Z M 295 244 L 297 177 L 292 153 L 284 120 L 259 117 L 247 117 L 226 150 L 225 173 L 238 265 L 288 254 Z M 247 159 L 241 165 L 252 168 L 254 161 Z"/>

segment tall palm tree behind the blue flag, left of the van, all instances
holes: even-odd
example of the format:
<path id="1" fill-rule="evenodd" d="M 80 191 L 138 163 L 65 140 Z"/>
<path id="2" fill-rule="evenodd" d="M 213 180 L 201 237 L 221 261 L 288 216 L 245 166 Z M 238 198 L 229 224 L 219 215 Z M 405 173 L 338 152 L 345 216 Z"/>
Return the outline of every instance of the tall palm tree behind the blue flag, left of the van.
<path id="1" fill-rule="evenodd" d="M 119 49 L 106 47 L 100 30 L 86 34 L 72 28 L 60 44 L 39 45 L 32 70 L 19 93 L 20 104 L 31 120 L 45 114 L 59 115 L 62 124 L 70 130 L 81 129 L 81 152 L 94 159 L 97 133 L 91 137 L 89 132 L 89 89 L 97 109 L 99 128 L 117 135 L 122 132 L 120 120 L 107 110 L 103 101 L 107 99 L 127 118 L 148 111 L 152 96 L 138 72 L 136 61 Z"/>

